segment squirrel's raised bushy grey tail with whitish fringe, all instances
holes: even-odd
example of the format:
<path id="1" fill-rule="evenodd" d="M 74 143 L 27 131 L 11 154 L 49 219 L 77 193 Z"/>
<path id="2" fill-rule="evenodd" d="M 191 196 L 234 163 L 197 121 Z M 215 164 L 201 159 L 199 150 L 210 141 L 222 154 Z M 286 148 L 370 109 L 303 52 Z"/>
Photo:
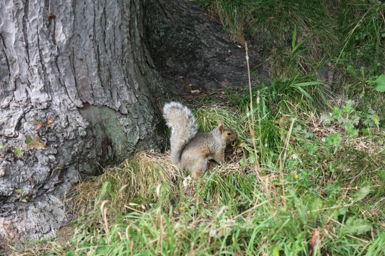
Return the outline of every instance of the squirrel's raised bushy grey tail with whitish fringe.
<path id="1" fill-rule="evenodd" d="M 171 128 L 171 160 L 178 163 L 184 147 L 197 133 L 197 124 L 191 110 L 179 102 L 166 103 L 163 117 Z"/>

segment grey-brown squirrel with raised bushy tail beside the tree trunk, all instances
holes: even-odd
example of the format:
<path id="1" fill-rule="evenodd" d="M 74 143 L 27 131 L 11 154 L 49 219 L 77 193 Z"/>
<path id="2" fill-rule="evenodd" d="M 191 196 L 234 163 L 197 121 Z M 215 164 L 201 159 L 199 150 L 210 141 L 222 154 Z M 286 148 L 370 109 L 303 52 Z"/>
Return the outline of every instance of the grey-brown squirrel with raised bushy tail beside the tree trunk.
<path id="1" fill-rule="evenodd" d="M 166 103 L 163 117 L 171 128 L 171 160 L 179 168 L 189 170 L 195 179 L 206 171 L 207 160 L 224 163 L 227 142 L 237 139 L 234 130 L 224 126 L 222 121 L 210 132 L 197 132 L 194 115 L 179 102 Z"/>

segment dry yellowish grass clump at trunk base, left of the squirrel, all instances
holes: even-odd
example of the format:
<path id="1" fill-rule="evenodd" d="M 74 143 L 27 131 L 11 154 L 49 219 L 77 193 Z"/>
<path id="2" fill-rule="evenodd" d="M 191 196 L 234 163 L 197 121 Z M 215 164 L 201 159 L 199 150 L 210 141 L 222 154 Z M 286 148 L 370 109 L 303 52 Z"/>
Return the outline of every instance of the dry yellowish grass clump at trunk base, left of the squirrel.
<path id="1" fill-rule="evenodd" d="M 171 195 L 178 194 L 174 182 L 185 175 L 164 155 L 138 152 L 103 175 L 76 186 L 77 196 L 69 199 L 68 203 L 74 202 L 74 209 L 81 210 L 79 213 L 93 219 L 94 224 L 101 224 L 102 216 L 97 209 L 102 202 L 95 199 L 102 198 L 107 203 L 106 207 L 113 209 L 108 212 L 110 221 L 116 221 L 129 212 L 130 207 L 147 208 L 155 203 L 155 190 L 159 185 L 166 186 Z"/>

